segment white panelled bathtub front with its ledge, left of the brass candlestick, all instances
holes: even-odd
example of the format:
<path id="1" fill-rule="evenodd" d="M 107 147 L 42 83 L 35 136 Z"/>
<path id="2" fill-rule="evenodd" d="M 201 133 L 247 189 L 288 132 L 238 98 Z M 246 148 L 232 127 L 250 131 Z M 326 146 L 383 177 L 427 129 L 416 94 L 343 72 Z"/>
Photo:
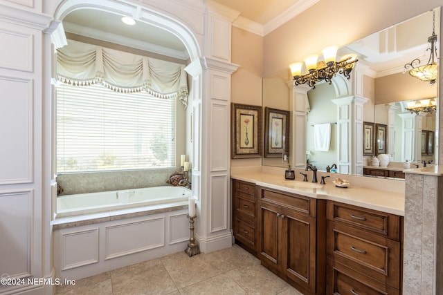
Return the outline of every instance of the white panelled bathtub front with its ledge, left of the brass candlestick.
<path id="1" fill-rule="evenodd" d="M 54 227 L 55 277 L 79 279 L 183 251 L 188 202 L 60 218 Z"/>

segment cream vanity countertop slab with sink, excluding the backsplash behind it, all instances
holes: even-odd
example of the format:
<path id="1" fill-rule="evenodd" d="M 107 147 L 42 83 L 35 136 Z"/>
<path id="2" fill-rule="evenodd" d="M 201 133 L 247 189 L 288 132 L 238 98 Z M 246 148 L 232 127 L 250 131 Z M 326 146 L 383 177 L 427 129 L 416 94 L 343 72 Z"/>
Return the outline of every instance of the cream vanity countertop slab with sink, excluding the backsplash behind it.
<path id="1" fill-rule="evenodd" d="M 302 182 L 298 180 L 285 180 L 284 174 L 277 175 L 275 173 L 266 173 L 261 171 L 240 171 L 241 169 L 231 169 L 230 177 L 236 180 L 252 182 L 260 187 L 268 187 L 270 189 L 278 189 L 288 193 L 298 193 L 302 196 L 318 198 L 324 200 L 333 200 L 343 202 L 367 209 L 383 211 L 399 216 L 404 216 L 404 193 L 382 191 L 368 187 L 353 186 L 340 188 L 336 187 L 333 180 L 336 178 L 345 178 L 346 175 L 330 174 L 325 179 L 326 184 L 320 184 L 320 176 L 318 182 Z M 443 172 L 443 171 L 442 171 Z M 312 171 L 307 171 L 308 179 L 312 178 Z"/>

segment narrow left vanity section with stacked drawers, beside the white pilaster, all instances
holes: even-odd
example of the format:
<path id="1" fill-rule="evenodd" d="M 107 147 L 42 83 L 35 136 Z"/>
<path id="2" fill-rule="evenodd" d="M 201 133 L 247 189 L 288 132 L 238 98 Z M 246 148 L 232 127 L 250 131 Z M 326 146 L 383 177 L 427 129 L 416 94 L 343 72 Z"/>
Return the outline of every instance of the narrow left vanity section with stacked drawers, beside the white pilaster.
<path id="1" fill-rule="evenodd" d="M 257 256 L 255 184 L 232 180 L 233 234 L 235 243 Z"/>

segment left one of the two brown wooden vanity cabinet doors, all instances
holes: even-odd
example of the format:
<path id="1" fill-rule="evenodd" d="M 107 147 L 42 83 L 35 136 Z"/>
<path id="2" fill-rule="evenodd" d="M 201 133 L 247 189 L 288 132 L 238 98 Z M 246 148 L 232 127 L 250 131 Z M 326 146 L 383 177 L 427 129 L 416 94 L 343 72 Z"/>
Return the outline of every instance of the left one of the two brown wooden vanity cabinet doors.
<path id="1" fill-rule="evenodd" d="M 260 202 L 260 260 L 262 265 L 273 271 L 280 271 L 278 245 L 282 235 L 279 230 L 281 218 L 278 216 L 280 207 L 266 202 Z"/>

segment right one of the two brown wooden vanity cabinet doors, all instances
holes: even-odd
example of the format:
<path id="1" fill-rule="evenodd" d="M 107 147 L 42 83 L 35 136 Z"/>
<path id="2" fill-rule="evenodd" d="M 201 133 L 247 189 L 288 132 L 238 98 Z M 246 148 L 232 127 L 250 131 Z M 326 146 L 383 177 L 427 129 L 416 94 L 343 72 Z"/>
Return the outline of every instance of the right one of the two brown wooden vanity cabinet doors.
<path id="1" fill-rule="evenodd" d="M 284 274 L 302 287 L 315 292 L 316 287 L 316 220 L 283 209 L 282 269 Z"/>

